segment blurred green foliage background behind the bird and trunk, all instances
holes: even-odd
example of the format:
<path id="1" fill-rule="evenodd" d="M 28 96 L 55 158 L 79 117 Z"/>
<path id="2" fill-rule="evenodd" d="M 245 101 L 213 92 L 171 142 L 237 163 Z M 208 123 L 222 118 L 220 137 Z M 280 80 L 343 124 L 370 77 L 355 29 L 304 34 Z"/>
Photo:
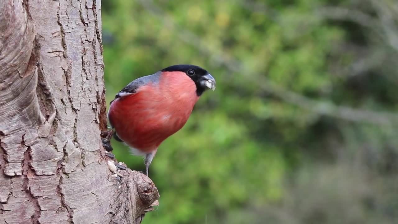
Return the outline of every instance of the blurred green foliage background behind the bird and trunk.
<path id="1" fill-rule="evenodd" d="M 107 102 L 175 64 L 217 80 L 160 146 L 149 169 L 160 206 L 143 223 L 393 223 L 398 50 L 381 17 L 390 12 L 398 38 L 397 8 L 103 0 Z M 144 171 L 142 158 L 112 144 L 119 161 Z"/>

